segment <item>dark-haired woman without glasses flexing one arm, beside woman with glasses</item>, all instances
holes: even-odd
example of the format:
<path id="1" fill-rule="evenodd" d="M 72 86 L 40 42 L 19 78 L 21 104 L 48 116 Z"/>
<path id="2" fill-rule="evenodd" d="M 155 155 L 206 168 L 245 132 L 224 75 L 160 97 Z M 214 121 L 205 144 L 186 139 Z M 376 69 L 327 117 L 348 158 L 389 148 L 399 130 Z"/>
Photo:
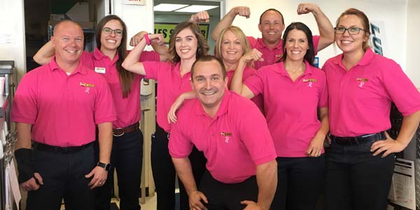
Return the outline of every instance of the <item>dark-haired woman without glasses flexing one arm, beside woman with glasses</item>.
<path id="1" fill-rule="evenodd" d="M 258 51 L 241 57 L 230 87 L 244 97 L 261 94 L 264 99 L 278 157 L 272 209 L 315 209 L 324 181 L 328 92 L 325 73 L 314 66 L 310 29 L 301 22 L 290 24 L 283 34 L 283 57 L 258 69 L 243 84 L 244 64 L 260 57 Z"/>

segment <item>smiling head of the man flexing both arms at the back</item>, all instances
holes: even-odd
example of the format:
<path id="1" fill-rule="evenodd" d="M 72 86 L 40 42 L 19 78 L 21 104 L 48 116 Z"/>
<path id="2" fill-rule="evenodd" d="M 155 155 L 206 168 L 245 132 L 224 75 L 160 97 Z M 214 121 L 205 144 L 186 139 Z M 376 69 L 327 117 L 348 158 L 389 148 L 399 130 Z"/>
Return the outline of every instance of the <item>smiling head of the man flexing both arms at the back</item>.
<path id="1" fill-rule="evenodd" d="M 281 40 L 281 33 L 284 29 L 281 15 L 273 10 L 268 10 L 261 17 L 261 22 L 258 25 L 262 34 L 262 40 L 266 44 L 277 44 Z"/>

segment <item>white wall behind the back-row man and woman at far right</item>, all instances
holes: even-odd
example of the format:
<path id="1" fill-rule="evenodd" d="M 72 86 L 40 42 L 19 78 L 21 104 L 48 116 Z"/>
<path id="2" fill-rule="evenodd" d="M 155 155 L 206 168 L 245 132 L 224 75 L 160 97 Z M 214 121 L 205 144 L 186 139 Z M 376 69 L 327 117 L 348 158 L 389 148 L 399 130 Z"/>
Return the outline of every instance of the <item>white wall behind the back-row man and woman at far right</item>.
<path id="1" fill-rule="evenodd" d="M 416 0 L 412 0 L 416 1 Z M 267 8 L 276 8 L 283 13 L 285 18 L 285 25 L 290 22 L 304 22 L 309 26 L 313 34 L 319 34 L 318 27 L 311 14 L 297 15 L 297 5 L 307 1 L 288 1 L 288 0 L 260 0 L 255 3 L 253 0 L 227 0 L 226 11 L 228 12 L 235 6 L 250 6 L 251 18 L 245 19 L 237 17 L 233 25 L 241 27 L 246 35 L 261 37 L 258 30 L 258 22 L 260 14 Z M 405 29 L 406 29 L 406 8 L 407 0 L 366 0 L 366 1 L 348 1 L 348 0 L 314 0 L 312 1 L 327 15 L 327 17 L 335 26 L 335 21 L 339 15 L 347 8 L 358 8 L 366 13 L 371 22 L 383 21 L 386 28 L 386 50 L 384 55 L 390 57 L 398 62 L 403 69 L 405 69 L 406 60 L 406 43 L 405 43 Z M 414 24 L 413 24 L 414 25 Z M 332 45 L 318 53 L 320 57 L 320 66 L 323 65 L 326 59 L 339 54 L 340 50 Z"/>

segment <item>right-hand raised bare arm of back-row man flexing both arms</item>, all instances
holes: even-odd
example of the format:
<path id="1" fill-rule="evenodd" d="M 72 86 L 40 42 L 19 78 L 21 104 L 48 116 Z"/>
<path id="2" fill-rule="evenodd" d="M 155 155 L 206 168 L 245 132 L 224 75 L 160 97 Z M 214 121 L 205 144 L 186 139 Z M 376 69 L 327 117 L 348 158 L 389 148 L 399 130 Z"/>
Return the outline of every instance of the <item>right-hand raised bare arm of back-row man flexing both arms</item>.
<path id="1" fill-rule="evenodd" d="M 332 28 L 330 20 L 328 20 L 321 8 L 315 3 L 300 3 L 299 6 L 297 6 L 298 15 L 307 13 L 312 13 L 314 15 L 316 24 L 318 25 L 320 37 L 316 50 L 319 52 L 334 42 L 334 29 Z"/>

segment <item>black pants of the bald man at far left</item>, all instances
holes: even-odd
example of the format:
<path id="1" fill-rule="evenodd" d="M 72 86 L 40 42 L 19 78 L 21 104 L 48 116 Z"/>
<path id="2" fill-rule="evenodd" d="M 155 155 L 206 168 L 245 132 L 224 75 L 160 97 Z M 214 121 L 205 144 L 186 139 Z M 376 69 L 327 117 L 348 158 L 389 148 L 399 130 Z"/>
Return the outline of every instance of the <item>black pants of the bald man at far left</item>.
<path id="1" fill-rule="evenodd" d="M 28 192 L 27 210 L 59 210 L 63 198 L 66 210 L 94 208 L 94 191 L 85 178 L 96 164 L 93 145 L 73 153 L 34 148 L 33 157 L 34 171 L 41 175 L 43 185 Z"/>

